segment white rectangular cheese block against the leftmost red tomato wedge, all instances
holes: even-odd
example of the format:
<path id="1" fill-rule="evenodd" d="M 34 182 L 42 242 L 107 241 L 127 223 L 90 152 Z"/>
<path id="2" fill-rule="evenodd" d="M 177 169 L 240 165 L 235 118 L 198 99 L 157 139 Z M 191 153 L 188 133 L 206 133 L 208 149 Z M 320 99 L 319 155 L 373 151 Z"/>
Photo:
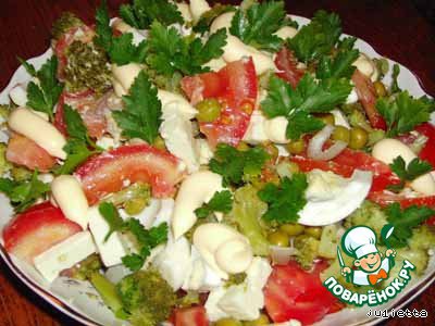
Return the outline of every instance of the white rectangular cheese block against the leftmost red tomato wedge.
<path id="1" fill-rule="evenodd" d="M 96 251 L 90 233 L 82 231 L 35 256 L 34 264 L 36 269 L 52 283 L 60 272 L 71 268 Z"/>

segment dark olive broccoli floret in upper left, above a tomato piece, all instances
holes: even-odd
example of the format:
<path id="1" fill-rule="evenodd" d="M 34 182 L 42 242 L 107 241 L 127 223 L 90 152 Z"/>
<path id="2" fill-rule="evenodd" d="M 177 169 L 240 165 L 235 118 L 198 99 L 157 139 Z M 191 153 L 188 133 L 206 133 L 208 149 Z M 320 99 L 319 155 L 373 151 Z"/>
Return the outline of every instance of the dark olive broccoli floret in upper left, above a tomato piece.
<path id="1" fill-rule="evenodd" d="M 108 58 L 101 48 L 76 40 L 67 48 L 66 59 L 64 75 L 69 91 L 92 89 L 101 95 L 111 87 Z"/>

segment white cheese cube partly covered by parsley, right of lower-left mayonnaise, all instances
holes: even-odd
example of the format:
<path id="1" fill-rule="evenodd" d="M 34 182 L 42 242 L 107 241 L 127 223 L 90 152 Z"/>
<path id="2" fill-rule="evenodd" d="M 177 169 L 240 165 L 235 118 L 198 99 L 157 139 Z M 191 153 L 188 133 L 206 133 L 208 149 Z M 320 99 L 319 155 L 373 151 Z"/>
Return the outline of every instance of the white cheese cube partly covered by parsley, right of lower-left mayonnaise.
<path id="1" fill-rule="evenodd" d="M 122 258 L 129 253 L 127 244 L 123 241 L 122 235 L 117 231 L 113 233 L 107 241 L 104 241 L 110 227 L 104 217 L 98 211 L 98 206 L 88 210 L 89 230 L 94 236 L 101 261 L 107 267 L 122 263 Z"/>

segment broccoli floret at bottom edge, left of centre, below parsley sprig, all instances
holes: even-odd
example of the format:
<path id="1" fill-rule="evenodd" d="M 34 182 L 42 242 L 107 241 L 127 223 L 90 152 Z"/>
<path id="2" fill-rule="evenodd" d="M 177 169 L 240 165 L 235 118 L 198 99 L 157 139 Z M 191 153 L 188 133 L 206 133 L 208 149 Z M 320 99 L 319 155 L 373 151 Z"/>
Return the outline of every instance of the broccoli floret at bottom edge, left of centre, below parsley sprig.
<path id="1" fill-rule="evenodd" d="M 133 325 L 157 326 L 166 321 L 177 300 L 171 286 L 154 269 L 128 275 L 116 288 Z"/>

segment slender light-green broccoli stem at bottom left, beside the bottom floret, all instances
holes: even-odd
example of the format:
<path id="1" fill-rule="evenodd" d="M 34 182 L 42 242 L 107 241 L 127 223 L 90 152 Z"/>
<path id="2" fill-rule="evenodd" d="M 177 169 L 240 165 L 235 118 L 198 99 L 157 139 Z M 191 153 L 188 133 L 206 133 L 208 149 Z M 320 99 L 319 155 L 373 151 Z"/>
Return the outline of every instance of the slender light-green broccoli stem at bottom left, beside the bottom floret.
<path id="1" fill-rule="evenodd" d="M 117 294 L 116 287 L 100 273 L 95 272 L 89 277 L 90 283 L 100 293 L 102 301 L 109 306 L 115 316 L 121 319 L 127 319 L 128 314 L 124 311 L 121 298 Z"/>

